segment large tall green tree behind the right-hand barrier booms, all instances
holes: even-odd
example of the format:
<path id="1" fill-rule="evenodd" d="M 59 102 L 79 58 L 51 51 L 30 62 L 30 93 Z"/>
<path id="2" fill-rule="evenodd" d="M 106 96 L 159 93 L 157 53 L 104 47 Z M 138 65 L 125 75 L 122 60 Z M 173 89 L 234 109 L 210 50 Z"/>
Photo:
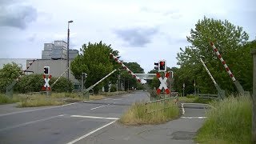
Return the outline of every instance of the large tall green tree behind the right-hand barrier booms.
<path id="1" fill-rule="evenodd" d="M 182 82 L 193 85 L 195 79 L 202 93 L 215 93 L 214 84 L 199 61 L 199 58 L 202 58 L 221 88 L 234 91 L 234 85 L 228 74 L 226 74 L 224 66 L 216 57 L 210 42 L 214 42 L 230 70 L 240 80 L 239 69 L 241 63 L 239 62 L 238 64 L 237 54 L 241 54 L 241 50 L 243 51 L 249 38 L 248 34 L 242 30 L 242 27 L 234 26 L 227 20 L 223 22 L 206 17 L 198 21 L 195 29 L 190 30 L 190 34 L 190 37 L 187 37 L 187 41 L 192 46 L 186 46 L 185 50 L 181 48 L 182 52 L 178 53 L 177 59 L 180 69 L 178 69 L 178 79 L 175 79 L 178 82 L 175 82 L 175 85 L 182 86 Z M 243 72 L 241 70 L 241 73 Z M 188 85 L 186 84 L 186 86 Z M 190 87 L 190 89 L 192 88 L 193 86 Z"/>

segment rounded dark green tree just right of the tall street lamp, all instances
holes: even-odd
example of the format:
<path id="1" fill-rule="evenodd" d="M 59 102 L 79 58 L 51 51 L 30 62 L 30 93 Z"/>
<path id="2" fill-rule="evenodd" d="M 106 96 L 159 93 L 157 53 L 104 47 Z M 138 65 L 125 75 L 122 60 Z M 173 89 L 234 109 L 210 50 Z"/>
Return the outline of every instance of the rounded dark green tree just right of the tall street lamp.
<path id="1" fill-rule="evenodd" d="M 71 62 L 70 70 L 77 79 L 82 78 L 82 73 L 88 74 L 85 86 L 89 87 L 106 76 L 106 74 L 109 74 L 117 66 L 113 59 L 110 59 L 110 53 L 118 55 L 117 50 L 113 50 L 110 45 L 107 46 L 102 42 L 84 44 L 80 49 L 78 57 L 74 58 L 74 61 Z M 108 79 L 104 82 L 108 82 Z M 104 82 L 95 86 L 94 92 L 98 93 Z"/>

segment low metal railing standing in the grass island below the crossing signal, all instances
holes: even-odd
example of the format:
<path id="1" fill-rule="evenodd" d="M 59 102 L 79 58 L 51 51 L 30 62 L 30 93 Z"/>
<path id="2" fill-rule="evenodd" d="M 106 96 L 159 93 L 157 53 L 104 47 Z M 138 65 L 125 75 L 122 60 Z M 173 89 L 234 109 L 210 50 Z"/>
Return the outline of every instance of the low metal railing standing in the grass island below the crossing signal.
<path id="1" fill-rule="evenodd" d="M 170 100 L 173 100 L 173 99 L 175 99 L 175 104 L 176 104 L 178 102 L 178 94 L 176 94 L 175 97 L 163 98 L 163 99 L 159 99 L 159 100 L 155 100 L 155 101 L 146 102 L 145 103 L 145 113 L 150 114 L 150 113 L 154 113 L 154 112 L 157 112 L 157 111 L 160 111 L 160 110 L 166 110 L 166 109 L 172 107 L 172 106 L 168 106 L 168 105 L 166 106 L 166 101 L 170 101 Z M 160 109 L 157 109 L 157 110 L 148 111 L 147 106 L 150 105 L 150 104 L 155 104 L 157 102 L 164 102 L 164 107 L 160 108 Z"/>

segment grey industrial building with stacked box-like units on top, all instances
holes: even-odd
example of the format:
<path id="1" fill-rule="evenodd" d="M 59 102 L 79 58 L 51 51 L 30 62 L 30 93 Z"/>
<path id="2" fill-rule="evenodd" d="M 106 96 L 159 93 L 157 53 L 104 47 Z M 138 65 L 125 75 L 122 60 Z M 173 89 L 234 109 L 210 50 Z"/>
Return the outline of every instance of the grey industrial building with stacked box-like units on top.
<path id="1" fill-rule="evenodd" d="M 67 43 L 64 41 L 54 41 L 54 43 L 45 43 L 42 50 L 42 59 L 37 59 L 30 68 L 29 71 L 33 71 L 34 74 L 43 74 L 43 67 L 50 66 L 50 75 L 58 78 L 67 69 Z M 69 50 L 69 63 L 71 63 L 75 57 L 78 56 L 78 50 Z M 26 60 L 26 66 L 29 66 L 29 62 L 33 59 Z M 69 65 L 70 66 L 70 65 Z M 74 78 L 74 75 L 69 70 L 69 77 L 74 86 L 80 86 L 81 82 Z M 62 77 L 67 77 L 67 74 L 63 74 Z"/>

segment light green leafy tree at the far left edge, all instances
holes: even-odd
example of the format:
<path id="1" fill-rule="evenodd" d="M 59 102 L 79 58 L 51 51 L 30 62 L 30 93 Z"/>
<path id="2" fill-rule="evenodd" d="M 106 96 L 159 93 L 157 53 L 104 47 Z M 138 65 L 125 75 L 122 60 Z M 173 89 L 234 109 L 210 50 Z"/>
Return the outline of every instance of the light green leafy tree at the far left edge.
<path id="1" fill-rule="evenodd" d="M 14 79 L 22 74 L 22 67 L 12 62 L 8 63 L 0 69 L 0 93 L 5 93 L 6 86 L 9 86 Z"/>

